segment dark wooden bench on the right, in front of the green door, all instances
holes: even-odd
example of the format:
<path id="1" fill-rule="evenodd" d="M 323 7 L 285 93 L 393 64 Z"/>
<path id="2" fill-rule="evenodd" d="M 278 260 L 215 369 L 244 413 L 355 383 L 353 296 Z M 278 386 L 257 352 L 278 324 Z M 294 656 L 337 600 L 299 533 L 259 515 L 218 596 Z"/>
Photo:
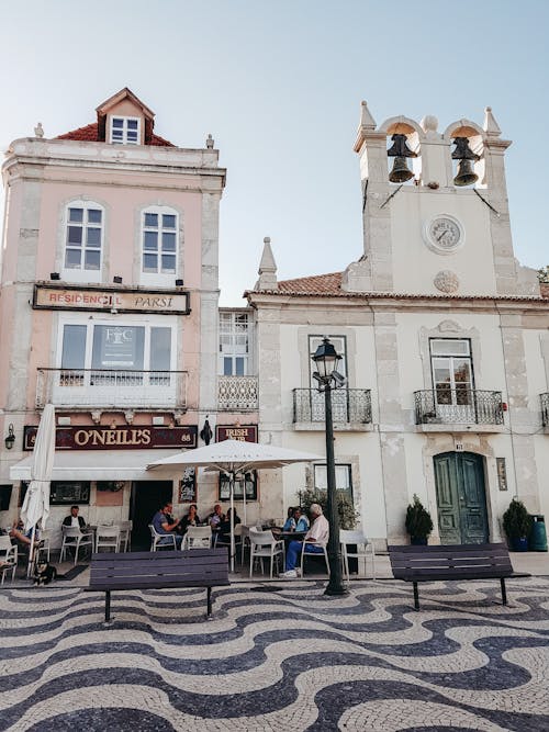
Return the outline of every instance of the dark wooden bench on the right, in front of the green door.
<path id="1" fill-rule="evenodd" d="M 515 574 L 505 544 L 451 544 L 440 547 L 388 547 L 395 579 L 412 582 L 414 606 L 419 609 L 417 583 L 437 579 L 500 579 L 507 605 L 505 579 Z"/>

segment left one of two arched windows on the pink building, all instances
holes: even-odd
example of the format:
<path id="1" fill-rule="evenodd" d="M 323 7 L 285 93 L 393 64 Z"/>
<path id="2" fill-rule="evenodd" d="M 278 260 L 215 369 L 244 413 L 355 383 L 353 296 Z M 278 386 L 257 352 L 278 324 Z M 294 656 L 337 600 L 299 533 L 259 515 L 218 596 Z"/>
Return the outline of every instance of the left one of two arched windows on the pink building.
<path id="1" fill-rule="evenodd" d="M 74 201 L 67 206 L 65 227 L 66 270 L 101 271 L 103 209 L 92 201 Z"/>

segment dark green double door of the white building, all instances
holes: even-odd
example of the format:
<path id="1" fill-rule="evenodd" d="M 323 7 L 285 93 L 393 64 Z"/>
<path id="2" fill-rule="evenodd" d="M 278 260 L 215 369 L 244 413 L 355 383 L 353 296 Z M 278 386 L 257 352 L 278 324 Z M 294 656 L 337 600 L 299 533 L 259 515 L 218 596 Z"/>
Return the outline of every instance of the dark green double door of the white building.
<path id="1" fill-rule="evenodd" d="M 473 452 L 435 455 L 438 530 L 442 544 L 489 540 L 484 466 Z"/>

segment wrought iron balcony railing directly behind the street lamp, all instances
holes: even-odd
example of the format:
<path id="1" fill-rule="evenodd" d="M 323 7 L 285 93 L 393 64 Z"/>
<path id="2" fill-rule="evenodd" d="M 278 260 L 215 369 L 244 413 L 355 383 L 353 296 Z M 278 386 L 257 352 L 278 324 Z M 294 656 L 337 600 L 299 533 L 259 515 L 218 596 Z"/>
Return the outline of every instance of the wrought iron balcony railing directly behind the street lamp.
<path id="1" fill-rule="evenodd" d="M 293 390 L 293 421 L 315 423 L 325 420 L 324 394 L 316 388 Z M 368 425 L 372 420 L 372 403 L 369 388 L 337 388 L 332 392 L 334 423 Z"/>

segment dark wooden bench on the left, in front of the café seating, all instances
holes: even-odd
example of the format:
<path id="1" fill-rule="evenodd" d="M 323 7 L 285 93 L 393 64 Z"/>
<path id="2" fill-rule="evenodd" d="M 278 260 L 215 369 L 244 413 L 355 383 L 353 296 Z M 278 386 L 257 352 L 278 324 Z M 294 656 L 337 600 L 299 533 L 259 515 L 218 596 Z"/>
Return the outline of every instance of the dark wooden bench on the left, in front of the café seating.
<path id="1" fill-rule="evenodd" d="M 104 592 L 104 621 L 111 621 L 111 592 L 205 587 L 208 618 L 212 615 L 212 587 L 228 585 L 225 549 L 170 552 L 105 552 L 92 554 L 87 592 Z"/>

